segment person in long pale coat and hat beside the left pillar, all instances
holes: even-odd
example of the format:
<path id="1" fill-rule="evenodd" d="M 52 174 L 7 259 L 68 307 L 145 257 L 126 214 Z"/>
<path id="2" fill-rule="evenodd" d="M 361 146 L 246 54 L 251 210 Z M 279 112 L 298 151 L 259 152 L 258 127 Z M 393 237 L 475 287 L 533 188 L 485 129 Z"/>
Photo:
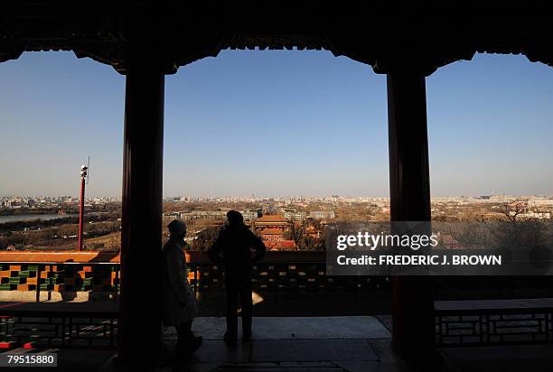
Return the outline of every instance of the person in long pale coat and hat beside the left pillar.
<path id="1" fill-rule="evenodd" d="M 201 337 L 192 334 L 192 321 L 198 313 L 194 292 L 188 283 L 184 237 L 186 225 L 175 219 L 168 226 L 170 238 L 163 250 L 162 321 L 178 333 L 173 371 L 183 371 L 188 354 L 202 344 Z"/>

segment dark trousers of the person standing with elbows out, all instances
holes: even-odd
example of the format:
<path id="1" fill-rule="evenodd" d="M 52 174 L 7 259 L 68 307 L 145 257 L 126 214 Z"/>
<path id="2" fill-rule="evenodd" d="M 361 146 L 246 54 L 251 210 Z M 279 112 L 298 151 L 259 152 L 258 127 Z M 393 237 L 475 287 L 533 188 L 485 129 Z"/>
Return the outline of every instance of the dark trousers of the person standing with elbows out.
<path id="1" fill-rule="evenodd" d="M 242 334 L 251 334 L 251 278 L 225 281 L 227 291 L 227 334 L 231 339 L 238 336 L 238 309 L 242 312 Z"/>

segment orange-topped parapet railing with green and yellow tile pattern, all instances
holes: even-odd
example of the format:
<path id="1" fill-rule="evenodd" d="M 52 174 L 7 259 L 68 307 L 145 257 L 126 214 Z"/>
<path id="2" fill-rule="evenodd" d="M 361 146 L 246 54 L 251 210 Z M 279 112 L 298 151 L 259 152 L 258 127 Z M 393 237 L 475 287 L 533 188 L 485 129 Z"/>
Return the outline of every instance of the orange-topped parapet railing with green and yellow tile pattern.
<path id="1" fill-rule="evenodd" d="M 220 290 L 224 274 L 202 252 L 186 254 L 189 280 L 198 292 Z M 253 285 L 260 291 L 381 288 L 387 278 L 325 275 L 324 252 L 267 252 L 254 266 Z M 2 252 L 2 291 L 114 293 L 119 286 L 120 256 L 99 252 Z"/>

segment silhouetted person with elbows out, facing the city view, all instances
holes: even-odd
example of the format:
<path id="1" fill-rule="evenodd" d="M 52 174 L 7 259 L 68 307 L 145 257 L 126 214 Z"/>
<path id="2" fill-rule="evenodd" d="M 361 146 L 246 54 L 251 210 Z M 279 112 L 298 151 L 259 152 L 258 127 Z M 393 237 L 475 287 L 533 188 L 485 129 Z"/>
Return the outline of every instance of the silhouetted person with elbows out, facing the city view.
<path id="1" fill-rule="evenodd" d="M 225 269 L 227 294 L 227 331 L 225 342 L 234 347 L 238 338 L 238 308 L 242 310 L 242 339 L 251 339 L 251 273 L 255 262 L 265 256 L 266 247 L 244 224 L 236 210 L 227 213 L 228 224 L 220 229 L 219 236 L 208 250 L 211 261 Z"/>

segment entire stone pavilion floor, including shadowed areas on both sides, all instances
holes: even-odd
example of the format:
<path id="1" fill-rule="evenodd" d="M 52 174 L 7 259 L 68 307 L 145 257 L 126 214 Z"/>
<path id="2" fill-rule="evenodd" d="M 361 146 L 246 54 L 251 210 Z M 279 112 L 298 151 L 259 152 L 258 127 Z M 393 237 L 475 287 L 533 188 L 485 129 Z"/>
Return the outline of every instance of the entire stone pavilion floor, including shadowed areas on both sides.
<path id="1" fill-rule="evenodd" d="M 222 341 L 224 318 L 200 317 L 193 330 L 204 343 L 192 355 L 192 372 L 409 372 L 394 358 L 388 319 L 351 317 L 258 317 L 254 318 L 253 340 L 239 342 L 236 349 Z M 164 330 L 164 340 L 174 344 L 172 328 Z M 551 372 L 551 345 L 441 349 L 442 372 Z M 114 350 L 14 349 L 4 353 L 58 354 L 59 371 L 115 371 Z M 137 350 L 137 353 L 147 350 Z M 53 370 L 53 368 L 44 368 Z M 170 371 L 161 367 L 160 371 Z M 424 367 L 418 369 L 428 372 Z"/>

